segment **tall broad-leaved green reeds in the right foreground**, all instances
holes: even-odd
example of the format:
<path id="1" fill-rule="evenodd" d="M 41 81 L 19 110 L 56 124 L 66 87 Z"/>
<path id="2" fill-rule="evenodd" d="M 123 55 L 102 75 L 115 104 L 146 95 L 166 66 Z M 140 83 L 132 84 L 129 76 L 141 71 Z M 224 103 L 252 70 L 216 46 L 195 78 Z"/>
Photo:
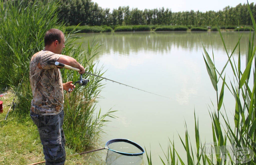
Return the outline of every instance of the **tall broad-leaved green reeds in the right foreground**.
<path id="1" fill-rule="evenodd" d="M 253 29 L 255 29 L 256 23 L 249 3 L 247 2 L 247 4 Z M 251 31 L 249 34 L 246 68 L 242 70 L 240 39 L 245 34 L 238 33 L 238 42 L 232 53 L 229 54 L 219 27 L 218 31 L 228 57 L 222 69 L 216 68 L 214 51 L 211 50 L 211 57 L 202 43 L 206 69 L 217 98 L 216 103 L 212 102 L 216 107 L 215 111 L 209 112 L 212 120 L 213 143 L 209 144 L 210 147 L 207 148 L 206 144 L 200 139 L 199 123 L 194 114 L 195 142 L 189 140 L 187 128 L 185 139 L 182 139 L 179 135 L 180 142 L 182 142 L 187 154 L 186 158 L 181 158 L 174 147 L 174 141 L 169 140 L 168 152 L 165 154 L 165 158 L 161 158 L 163 164 L 165 164 L 165 161 L 167 161 L 167 164 L 256 164 L 256 47 L 254 43 L 256 33 Z M 233 58 L 237 49 L 238 61 Z M 224 74 L 228 65 L 233 73 L 231 80 L 227 80 Z M 227 112 L 223 106 L 224 92 L 230 92 L 233 95 L 235 101 L 233 119 L 226 115 Z M 192 143 L 195 144 L 195 148 L 192 147 Z M 147 154 L 147 157 L 150 157 L 150 155 Z M 152 164 L 149 160 L 150 158 L 148 158 L 148 164 Z"/>

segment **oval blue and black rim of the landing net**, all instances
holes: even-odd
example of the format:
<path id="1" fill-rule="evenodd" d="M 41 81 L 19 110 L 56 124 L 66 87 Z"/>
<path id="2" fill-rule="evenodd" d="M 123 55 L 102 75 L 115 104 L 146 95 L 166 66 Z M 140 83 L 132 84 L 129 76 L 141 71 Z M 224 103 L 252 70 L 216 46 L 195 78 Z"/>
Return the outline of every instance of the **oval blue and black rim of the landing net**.
<path id="1" fill-rule="evenodd" d="M 108 145 L 109 145 L 109 144 L 112 144 L 112 143 L 115 143 L 115 142 L 126 142 L 126 143 L 130 143 L 130 144 L 136 146 L 136 147 L 137 147 L 138 149 L 140 149 L 142 152 L 141 152 L 141 153 L 124 153 L 124 152 L 116 151 L 116 150 L 113 150 L 113 149 L 109 148 Z M 130 140 L 128 140 L 128 139 L 112 139 L 112 140 L 109 140 L 109 141 L 106 143 L 105 148 L 106 148 L 106 149 L 109 149 L 109 150 L 111 150 L 111 151 L 113 151 L 113 152 L 115 152 L 115 153 L 122 154 L 122 155 L 126 155 L 126 156 L 139 156 L 139 155 L 144 154 L 144 152 L 145 152 L 144 149 L 143 149 L 140 145 L 138 145 L 137 143 L 135 143 L 135 142 L 133 142 L 133 141 L 130 141 Z"/>

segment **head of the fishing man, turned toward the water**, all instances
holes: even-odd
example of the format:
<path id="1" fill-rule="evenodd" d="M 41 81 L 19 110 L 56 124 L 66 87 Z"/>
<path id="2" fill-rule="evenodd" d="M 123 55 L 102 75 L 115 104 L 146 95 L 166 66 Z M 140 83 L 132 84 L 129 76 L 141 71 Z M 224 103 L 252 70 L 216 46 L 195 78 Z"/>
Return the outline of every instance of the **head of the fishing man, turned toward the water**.
<path id="1" fill-rule="evenodd" d="M 50 29 L 44 37 L 45 48 L 53 53 L 61 54 L 65 47 L 65 37 L 62 31 L 58 29 Z"/>

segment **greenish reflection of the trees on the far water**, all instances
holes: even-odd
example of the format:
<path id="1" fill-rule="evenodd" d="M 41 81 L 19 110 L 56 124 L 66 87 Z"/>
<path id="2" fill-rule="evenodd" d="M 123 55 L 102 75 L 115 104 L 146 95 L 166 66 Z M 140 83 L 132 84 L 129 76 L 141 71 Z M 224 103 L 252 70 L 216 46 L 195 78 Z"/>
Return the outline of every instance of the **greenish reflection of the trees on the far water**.
<path id="1" fill-rule="evenodd" d="M 222 32 L 223 40 L 229 53 L 233 51 L 238 41 L 237 32 Z M 165 54 L 174 48 L 182 48 L 193 51 L 201 51 L 201 41 L 206 49 L 223 50 L 223 44 L 218 32 L 116 32 L 101 34 L 81 34 L 86 39 L 97 36 L 97 41 L 103 44 L 100 54 L 118 53 L 119 55 L 130 55 L 138 52 L 155 52 Z M 242 55 L 246 53 L 248 32 L 241 39 Z M 201 41 L 200 41 L 201 40 Z M 92 40 L 90 40 L 92 42 Z M 87 43 L 84 43 L 84 47 Z M 237 54 L 235 54 L 237 55 Z"/>

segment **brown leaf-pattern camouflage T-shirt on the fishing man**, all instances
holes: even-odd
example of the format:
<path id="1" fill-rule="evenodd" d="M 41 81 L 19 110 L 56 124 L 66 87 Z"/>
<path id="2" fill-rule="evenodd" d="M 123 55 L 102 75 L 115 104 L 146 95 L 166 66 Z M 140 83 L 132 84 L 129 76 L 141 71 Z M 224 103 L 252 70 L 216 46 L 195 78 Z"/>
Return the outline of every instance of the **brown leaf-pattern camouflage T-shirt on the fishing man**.
<path id="1" fill-rule="evenodd" d="M 63 84 L 60 70 L 54 63 L 61 57 L 41 50 L 34 54 L 29 65 L 33 99 L 31 110 L 39 115 L 57 115 L 63 110 Z"/>

